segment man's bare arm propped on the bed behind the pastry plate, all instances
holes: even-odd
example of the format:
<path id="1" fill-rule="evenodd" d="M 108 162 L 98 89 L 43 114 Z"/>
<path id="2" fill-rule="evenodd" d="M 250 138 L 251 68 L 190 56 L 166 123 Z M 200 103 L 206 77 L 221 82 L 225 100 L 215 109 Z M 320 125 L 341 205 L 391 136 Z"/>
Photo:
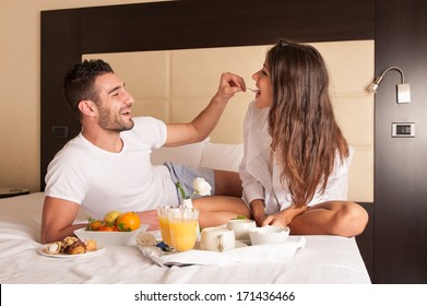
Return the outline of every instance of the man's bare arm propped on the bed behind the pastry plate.
<path id="1" fill-rule="evenodd" d="M 80 205 L 78 203 L 46 197 L 43 207 L 40 243 L 60 242 L 67 236 L 74 235 L 78 228 L 87 224 L 73 224 Z"/>

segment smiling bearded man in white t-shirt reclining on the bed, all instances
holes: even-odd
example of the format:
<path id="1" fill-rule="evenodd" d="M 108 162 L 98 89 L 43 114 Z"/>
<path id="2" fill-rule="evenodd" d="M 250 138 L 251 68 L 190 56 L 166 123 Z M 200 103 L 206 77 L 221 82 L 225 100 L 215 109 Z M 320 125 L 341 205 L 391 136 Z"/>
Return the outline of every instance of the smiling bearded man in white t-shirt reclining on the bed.
<path id="1" fill-rule="evenodd" d="M 152 117 L 132 118 L 134 101 L 108 63 L 85 60 L 73 66 L 64 78 L 63 92 L 82 131 L 49 164 L 41 243 L 61 240 L 86 226 L 73 224 L 80 207 L 97 219 L 111 210 L 135 211 L 154 229 L 158 226 L 156 207 L 179 203 L 177 180 L 191 185 L 192 178 L 202 176 L 215 195 L 240 196 L 238 174 L 170 163 L 154 166 L 150 160 L 152 150 L 162 145 L 205 139 L 228 99 L 240 91 L 246 91 L 244 80 L 223 73 L 216 94 L 191 122 L 166 125 Z M 236 214 L 241 210 L 246 208 Z"/>

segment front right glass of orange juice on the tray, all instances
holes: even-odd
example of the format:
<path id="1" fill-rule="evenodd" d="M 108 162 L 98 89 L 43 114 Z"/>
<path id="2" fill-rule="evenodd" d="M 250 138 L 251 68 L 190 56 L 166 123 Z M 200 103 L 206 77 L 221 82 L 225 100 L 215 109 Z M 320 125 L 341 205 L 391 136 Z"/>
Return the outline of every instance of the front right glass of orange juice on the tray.
<path id="1" fill-rule="evenodd" d="M 177 251 L 194 247 L 198 234 L 199 210 L 179 207 L 168 211 L 171 245 Z"/>

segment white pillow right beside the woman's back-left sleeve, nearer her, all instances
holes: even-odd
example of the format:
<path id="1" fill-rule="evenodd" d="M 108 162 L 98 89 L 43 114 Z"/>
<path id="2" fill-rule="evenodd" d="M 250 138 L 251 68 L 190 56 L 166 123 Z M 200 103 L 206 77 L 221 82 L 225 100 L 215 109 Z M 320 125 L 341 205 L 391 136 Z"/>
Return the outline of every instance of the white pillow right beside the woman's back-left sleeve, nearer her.
<path id="1" fill-rule="evenodd" d="M 239 172 L 244 157 L 244 144 L 207 143 L 204 148 L 201 167 Z"/>

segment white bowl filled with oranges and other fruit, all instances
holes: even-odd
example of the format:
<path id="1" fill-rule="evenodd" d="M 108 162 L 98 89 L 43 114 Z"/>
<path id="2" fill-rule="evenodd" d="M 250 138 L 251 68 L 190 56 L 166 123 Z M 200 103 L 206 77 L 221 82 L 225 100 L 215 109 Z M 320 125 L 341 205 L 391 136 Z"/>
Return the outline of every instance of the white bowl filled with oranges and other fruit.
<path id="1" fill-rule="evenodd" d="M 74 234 L 82 242 L 95 239 L 103 245 L 133 246 L 138 233 L 147 228 L 134 212 L 110 211 L 103 220 L 90 217 L 87 226 L 75 229 Z"/>

